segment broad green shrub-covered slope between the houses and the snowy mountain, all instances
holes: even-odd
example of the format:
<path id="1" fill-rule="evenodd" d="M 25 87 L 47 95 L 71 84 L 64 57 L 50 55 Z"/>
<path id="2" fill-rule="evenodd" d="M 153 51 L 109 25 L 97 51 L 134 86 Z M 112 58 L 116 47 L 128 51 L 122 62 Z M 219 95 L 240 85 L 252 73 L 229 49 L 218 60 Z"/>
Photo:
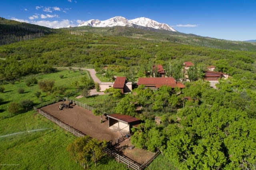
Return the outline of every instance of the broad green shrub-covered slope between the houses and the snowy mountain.
<path id="1" fill-rule="evenodd" d="M 47 73 L 53 66 L 115 65 L 116 71 L 132 68 L 134 72 L 141 73 L 145 71 L 144 63 L 148 63 L 148 60 L 162 64 L 166 69 L 168 62 L 173 59 L 216 65 L 219 71 L 254 79 L 256 58 L 256 53 L 250 51 L 230 51 L 69 30 L 40 39 L 2 45 L 0 55 L 2 81 L 31 73 Z"/>

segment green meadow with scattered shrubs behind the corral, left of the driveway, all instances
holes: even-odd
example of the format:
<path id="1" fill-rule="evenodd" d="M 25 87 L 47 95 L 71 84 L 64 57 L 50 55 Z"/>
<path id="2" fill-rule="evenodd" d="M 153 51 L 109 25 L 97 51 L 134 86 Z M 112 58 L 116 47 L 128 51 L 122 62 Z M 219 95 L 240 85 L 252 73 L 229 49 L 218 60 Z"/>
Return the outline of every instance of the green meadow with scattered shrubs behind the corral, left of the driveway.
<path id="1" fill-rule="evenodd" d="M 61 79 L 60 75 L 64 75 L 64 77 Z M 35 75 L 35 77 L 38 81 L 48 79 L 48 80 L 54 80 L 54 86 L 55 87 L 65 87 L 66 92 L 70 93 L 73 91 L 76 91 L 74 87 L 71 86 L 71 83 L 74 81 L 79 81 L 81 77 L 87 76 L 87 74 L 84 72 L 82 75 L 79 71 L 59 71 L 56 73 L 49 73 L 49 74 L 43 74 L 43 75 Z M 41 97 L 44 101 L 52 101 L 52 99 L 55 99 L 55 97 L 51 94 L 47 94 L 42 92 L 42 90 L 39 89 L 38 84 L 30 85 L 29 87 L 26 85 L 25 80 L 30 77 L 25 77 L 24 79 L 20 81 L 16 81 L 14 84 L 6 84 L 1 85 L 4 87 L 4 93 L 0 93 L 1 97 L 4 99 L 4 102 L 0 105 L 0 117 L 4 115 L 9 115 L 7 108 L 8 105 L 10 105 L 11 102 L 20 102 L 24 99 L 30 99 L 35 104 L 40 103 L 39 99 L 35 96 L 35 93 L 37 91 L 41 92 Z M 81 83 L 80 83 L 81 84 Z M 19 94 L 18 89 L 22 88 L 24 89 L 24 93 Z"/>

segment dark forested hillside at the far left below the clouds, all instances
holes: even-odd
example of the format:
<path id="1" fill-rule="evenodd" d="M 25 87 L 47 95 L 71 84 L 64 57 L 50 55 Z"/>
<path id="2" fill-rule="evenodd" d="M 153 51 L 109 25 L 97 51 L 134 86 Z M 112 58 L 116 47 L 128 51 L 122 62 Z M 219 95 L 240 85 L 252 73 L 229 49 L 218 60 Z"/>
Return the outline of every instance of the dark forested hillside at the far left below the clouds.
<path id="1" fill-rule="evenodd" d="M 0 45 L 40 38 L 50 32 L 50 28 L 0 17 Z"/>

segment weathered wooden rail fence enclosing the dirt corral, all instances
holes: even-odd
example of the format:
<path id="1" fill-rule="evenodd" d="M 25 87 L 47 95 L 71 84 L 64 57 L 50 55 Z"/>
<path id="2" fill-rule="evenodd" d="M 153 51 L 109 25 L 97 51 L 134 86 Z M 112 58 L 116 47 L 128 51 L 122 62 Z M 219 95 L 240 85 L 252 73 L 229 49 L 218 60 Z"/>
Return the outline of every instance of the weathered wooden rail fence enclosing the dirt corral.
<path id="1" fill-rule="evenodd" d="M 64 97 L 64 99 L 66 101 L 71 101 L 72 99 L 68 99 L 67 97 Z M 52 101 L 47 101 L 47 102 L 44 102 L 44 103 L 41 103 L 39 105 L 36 105 L 34 106 L 34 110 L 37 111 L 38 113 L 40 113 L 41 115 L 43 115 L 44 117 L 46 117 L 47 119 L 49 119 L 50 121 L 56 123 L 58 126 L 64 128 L 65 130 L 68 130 L 69 132 L 71 132 L 72 134 L 78 136 L 78 137 L 84 137 L 86 134 L 80 132 L 79 130 L 73 128 L 73 127 L 70 127 L 69 125 L 67 125 L 66 123 L 60 121 L 59 119 L 57 119 L 56 117 L 50 115 L 49 113 L 45 112 L 45 111 L 42 111 L 40 108 L 42 107 L 45 107 L 47 105 L 51 105 L 51 104 L 54 104 L 56 102 L 58 102 L 59 100 L 52 100 Z M 60 100 L 61 101 L 61 100 Z M 89 111 L 93 111 L 95 108 L 93 107 L 90 107 L 84 103 L 80 103 L 78 101 L 74 101 L 72 100 L 73 103 L 75 103 L 76 105 L 80 106 L 80 107 L 83 107 L 85 109 L 88 109 Z M 102 111 L 101 111 L 102 112 Z M 108 114 L 106 112 L 102 112 L 102 114 Z M 155 158 L 156 156 L 158 156 L 158 154 L 160 153 L 159 151 L 155 152 L 154 155 L 149 159 L 147 160 L 146 162 L 144 162 L 144 164 L 142 165 L 139 165 L 139 164 L 135 164 L 133 163 L 131 160 L 128 160 L 126 158 L 124 158 L 122 155 L 118 154 L 115 150 L 112 150 L 111 147 L 114 146 L 115 144 L 118 144 L 122 141 L 124 141 L 128 136 L 127 134 L 129 133 L 126 133 L 126 134 L 123 134 L 122 136 L 119 136 L 118 138 L 116 138 L 114 141 L 110 141 L 108 143 L 108 147 L 106 147 L 104 149 L 104 151 L 109 154 L 110 156 L 114 157 L 118 162 L 122 162 L 124 164 L 126 164 L 128 166 L 128 168 L 132 168 L 134 170 L 143 170 L 145 169 Z"/>

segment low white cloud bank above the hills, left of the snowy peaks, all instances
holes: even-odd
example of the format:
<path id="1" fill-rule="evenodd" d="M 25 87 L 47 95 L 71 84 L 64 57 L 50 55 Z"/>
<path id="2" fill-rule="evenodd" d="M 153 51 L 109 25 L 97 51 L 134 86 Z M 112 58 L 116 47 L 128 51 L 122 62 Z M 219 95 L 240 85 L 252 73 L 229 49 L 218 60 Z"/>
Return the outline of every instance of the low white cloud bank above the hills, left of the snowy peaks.
<path id="1" fill-rule="evenodd" d="M 28 20 L 21 20 L 17 18 L 11 18 L 11 20 L 15 20 L 18 22 L 27 22 L 30 24 L 36 24 L 39 26 L 45 26 L 49 28 L 65 28 L 67 26 L 76 26 L 70 22 L 70 20 L 60 20 L 60 21 L 46 21 L 46 20 L 41 20 L 41 21 L 28 21 Z"/>

